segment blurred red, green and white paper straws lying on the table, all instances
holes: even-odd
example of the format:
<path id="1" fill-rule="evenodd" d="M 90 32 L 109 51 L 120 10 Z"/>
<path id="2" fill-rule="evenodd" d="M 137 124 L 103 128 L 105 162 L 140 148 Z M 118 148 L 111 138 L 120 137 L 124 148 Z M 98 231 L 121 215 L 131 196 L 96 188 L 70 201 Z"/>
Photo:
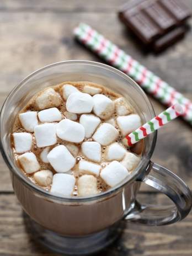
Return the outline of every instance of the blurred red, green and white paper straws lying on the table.
<path id="1" fill-rule="evenodd" d="M 79 24 L 74 29 L 76 38 L 89 49 L 102 57 L 119 70 L 134 79 L 147 92 L 157 98 L 164 105 L 171 106 L 176 103 L 183 106 L 183 118 L 192 125 L 192 102 L 177 92 L 169 84 L 162 81 L 146 67 L 134 60 L 130 55 L 119 49 L 111 41 L 104 38 L 87 24 Z"/>

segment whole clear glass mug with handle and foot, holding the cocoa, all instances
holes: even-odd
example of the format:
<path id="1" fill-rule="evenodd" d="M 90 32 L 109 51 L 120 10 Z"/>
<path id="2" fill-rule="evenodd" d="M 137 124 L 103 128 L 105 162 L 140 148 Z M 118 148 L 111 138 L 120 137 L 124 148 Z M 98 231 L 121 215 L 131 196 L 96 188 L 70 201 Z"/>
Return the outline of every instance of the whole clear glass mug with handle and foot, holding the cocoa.
<path id="1" fill-rule="evenodd" d="M 36 186 L 19 170 L 10 148 L 15 115 L 40 89 L 64 81 L 90 81 L 124 95 L 143 121 L 154 110 L 143 90 L 126 74 L 92 61 L 63 61 L 26 77 L 8 95 L 1 110 L 1 152 L 12 184 L 38 241 L 60 253 L 80 255 L 108 246 L 126 220 L 145 225 L 167 225 L 182 220 L 191 209 L 188 186 L 175 174 L 150 161 L 157 132 L 145 138 L 142 159 L 123 183 L 105 193 L 83 198 L 62 198 Z M 136 103 L 136 104 L 135 104 Z M 141 182 L 166 194 L 173 205 L 143 205 L 136 200 Z M 125 221 L 120 221 L 124 219 Z"/>

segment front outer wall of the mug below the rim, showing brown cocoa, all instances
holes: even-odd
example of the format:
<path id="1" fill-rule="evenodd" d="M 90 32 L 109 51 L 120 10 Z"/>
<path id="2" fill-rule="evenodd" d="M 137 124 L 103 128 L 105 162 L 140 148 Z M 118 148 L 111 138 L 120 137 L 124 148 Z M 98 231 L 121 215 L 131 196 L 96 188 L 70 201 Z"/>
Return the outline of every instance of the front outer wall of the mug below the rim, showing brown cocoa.
<path id="1" fill-rule="evenodd" d="M 54 202 L 35 194 L 13 175 L 13 188 L 24 211 L 48 230 L 63 236 L 86 236 L 113 225 L 129 211 L 138 184 L 90 202 Z"/>

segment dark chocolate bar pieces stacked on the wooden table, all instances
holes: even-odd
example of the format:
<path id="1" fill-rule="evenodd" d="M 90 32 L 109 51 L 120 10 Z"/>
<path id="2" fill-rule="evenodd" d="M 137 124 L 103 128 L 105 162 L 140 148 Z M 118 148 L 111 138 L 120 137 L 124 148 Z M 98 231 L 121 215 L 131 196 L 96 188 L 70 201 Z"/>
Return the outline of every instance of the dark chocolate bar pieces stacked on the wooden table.
<path id="1" fill-rule="evenodd" d="M 180 0 L 132 0 L 119 12 L 120 20 L 154 51 L 182 38 L 189 9 Z"/>

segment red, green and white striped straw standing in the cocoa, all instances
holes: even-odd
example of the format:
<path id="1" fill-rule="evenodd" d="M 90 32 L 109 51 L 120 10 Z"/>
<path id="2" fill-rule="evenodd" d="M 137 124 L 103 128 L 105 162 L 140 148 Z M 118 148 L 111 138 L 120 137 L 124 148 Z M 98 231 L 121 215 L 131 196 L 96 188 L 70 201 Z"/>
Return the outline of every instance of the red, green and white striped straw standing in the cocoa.
<path id="1" fill-rule="evenodd" d="M 183 115 L 183 113 L 184 111 L 182 105 L 175 104 L 170 106 L 161 114 L 154 117 L 151 121 L 146 122 L 137 130 L 131 132 L 131 134 L 126 135 L 123 139 L 124 144 L 131 147 L 136 142 L 142 140 L 142 138 L 147 137 L 148 135 L 152 134 L 152 132 L 168 124 L 168 122 L 172 121 L 180 115 Z"/>

